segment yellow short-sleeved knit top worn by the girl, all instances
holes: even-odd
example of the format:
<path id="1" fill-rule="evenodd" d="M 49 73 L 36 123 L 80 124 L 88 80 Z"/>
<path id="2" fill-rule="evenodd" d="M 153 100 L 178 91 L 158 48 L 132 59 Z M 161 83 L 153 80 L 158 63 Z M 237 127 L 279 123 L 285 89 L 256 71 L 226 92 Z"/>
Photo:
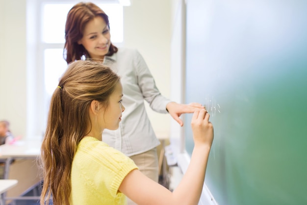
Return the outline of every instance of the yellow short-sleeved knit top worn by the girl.
<path id="1" fill-rule="evenodd" d="M 137 169 L 125 154 L 94 137 L 84 137 L 73 160 L 72 205 L 126 205 L 118 191 L 127 174 Z"/>

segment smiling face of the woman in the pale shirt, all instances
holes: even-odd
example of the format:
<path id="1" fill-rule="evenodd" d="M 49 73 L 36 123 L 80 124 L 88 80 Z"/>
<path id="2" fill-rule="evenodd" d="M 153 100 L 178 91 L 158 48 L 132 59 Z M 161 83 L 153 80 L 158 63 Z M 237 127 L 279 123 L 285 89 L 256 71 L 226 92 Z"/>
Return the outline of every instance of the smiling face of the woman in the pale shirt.
<path id="1" fill-rule="evenodd" d="M 95 17 L 83 30 L 83 37 L 77 42 L 82 44 L 90 58 L 102 59 L 110 48 L 110 29 L 102 17 Z"/>

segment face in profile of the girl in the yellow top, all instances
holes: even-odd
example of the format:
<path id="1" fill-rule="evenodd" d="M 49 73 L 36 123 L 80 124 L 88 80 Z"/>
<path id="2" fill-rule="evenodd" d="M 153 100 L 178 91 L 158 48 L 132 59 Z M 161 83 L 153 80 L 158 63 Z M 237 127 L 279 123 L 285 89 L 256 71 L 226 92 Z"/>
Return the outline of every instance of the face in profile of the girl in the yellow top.
<path id="1" fill-rule="evenodd" d="M 114 92 L 109 97 L 108 107 L 104 110 L 101 109 L 98 120 L 103 128 L 115 130 L 119 127 L 121 122 L 122 112 L 125 107 L 122 105 L 123 87 L 121 82 L 118 82 Z"/>

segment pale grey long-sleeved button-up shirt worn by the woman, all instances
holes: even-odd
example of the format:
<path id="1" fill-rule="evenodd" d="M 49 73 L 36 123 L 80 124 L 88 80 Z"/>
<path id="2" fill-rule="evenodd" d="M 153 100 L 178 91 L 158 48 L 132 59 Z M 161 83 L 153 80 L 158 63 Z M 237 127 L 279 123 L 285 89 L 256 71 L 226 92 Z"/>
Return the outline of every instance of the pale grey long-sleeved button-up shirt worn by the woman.
<path id="1" fill-rule="evenodd" d="M 147 152 L 160 142 L 153 132 L 144 100 L 159 113 L 167 113 L 166 104 L 171 101 L 160 94 L 138 51 L 119 48 L 117 53 L 104 57 L 104 63 L 109 61 L 115 63 L 113 70 L 121 77 L 126 110 L 117 130 L 104 129 L 102 141 L 128 156 Z"/>

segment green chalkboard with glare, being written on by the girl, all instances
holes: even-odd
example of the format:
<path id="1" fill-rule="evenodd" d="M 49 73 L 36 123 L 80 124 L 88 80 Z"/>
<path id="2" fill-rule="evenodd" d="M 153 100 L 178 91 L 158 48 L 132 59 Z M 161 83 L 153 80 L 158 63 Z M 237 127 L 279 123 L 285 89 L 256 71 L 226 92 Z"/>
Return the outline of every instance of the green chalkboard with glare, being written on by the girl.
<path id="1" fill-rule="evenodd" d="M 185 101 L 215 132 L 207 187 L 219 205 L 306 205 L 307 1 L 186 3 Z"/>

